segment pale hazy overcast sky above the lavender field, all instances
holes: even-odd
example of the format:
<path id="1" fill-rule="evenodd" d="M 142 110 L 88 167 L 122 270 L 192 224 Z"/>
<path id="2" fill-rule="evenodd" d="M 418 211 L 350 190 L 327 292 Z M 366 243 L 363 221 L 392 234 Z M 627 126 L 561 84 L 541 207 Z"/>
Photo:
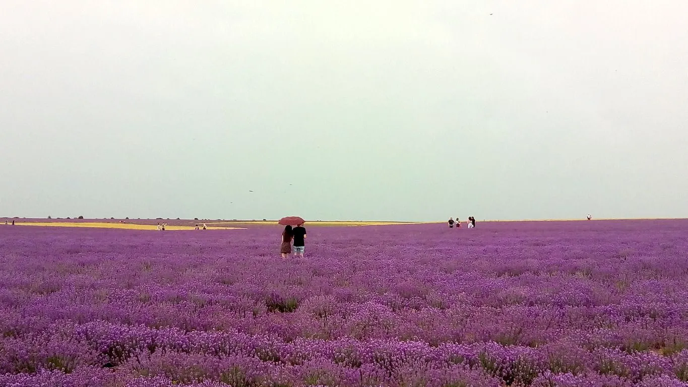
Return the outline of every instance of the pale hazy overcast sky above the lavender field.
<path id="1" fill-rule="evenodd" d="M 688 217 L 687 14 L 2 1 L 0 216 Z"/>

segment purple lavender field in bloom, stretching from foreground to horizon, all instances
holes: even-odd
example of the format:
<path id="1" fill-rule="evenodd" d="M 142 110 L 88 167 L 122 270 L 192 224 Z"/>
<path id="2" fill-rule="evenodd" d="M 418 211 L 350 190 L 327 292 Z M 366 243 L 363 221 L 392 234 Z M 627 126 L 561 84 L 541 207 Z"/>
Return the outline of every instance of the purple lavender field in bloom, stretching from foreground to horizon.
<path id="1" fill-rule="evenodd" d="M 0 225 L 0 386 L 688 386 L 688 221 Z"/>

